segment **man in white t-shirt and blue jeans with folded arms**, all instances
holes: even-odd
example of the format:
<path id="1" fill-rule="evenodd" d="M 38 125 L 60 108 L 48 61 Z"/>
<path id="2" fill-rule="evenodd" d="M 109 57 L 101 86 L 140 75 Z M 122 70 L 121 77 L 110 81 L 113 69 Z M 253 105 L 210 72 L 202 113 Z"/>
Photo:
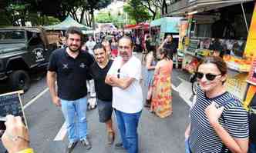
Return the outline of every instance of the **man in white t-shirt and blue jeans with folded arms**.
<path id="1" fill-rule="evenodd" d="M 113 86 L 113 108 L 122 139 L 115 148 L 126 149 L 128 153 L 139 152 L 137 127 L 143 108 L 141 63 L 133 56 L 133 48 L 130 37 L 120 38 L 120 56 L 115 58 L 105 80 Z"/>

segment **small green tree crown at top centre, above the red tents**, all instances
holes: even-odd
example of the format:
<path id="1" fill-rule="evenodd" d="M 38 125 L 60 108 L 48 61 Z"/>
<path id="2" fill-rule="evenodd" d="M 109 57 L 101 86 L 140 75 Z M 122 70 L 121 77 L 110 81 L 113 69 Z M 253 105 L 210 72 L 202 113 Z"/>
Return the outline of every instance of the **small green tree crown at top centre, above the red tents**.
<path id="1" fill-rule="evenodd" d="M 136 23 L 146 22 L 151 18 L 147 8 L 141 5 L 140 0 L 130 0 L 127 5 L 123 6 L 123 11 L 129 15 L 130 19 L 134 19 Z"/>

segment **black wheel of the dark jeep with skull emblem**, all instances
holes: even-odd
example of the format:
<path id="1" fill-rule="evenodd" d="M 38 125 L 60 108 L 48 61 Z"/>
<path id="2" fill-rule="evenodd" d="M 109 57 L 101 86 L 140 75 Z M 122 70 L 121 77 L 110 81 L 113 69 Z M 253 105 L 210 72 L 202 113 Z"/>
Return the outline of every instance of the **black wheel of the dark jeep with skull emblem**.
<path id="1" fill-rule="evenodd" d="M 30 78 L 28 72 L 18 70 L 12 72 L 9 78 L 12 90 L 28 91 L 30 87 Z"/>

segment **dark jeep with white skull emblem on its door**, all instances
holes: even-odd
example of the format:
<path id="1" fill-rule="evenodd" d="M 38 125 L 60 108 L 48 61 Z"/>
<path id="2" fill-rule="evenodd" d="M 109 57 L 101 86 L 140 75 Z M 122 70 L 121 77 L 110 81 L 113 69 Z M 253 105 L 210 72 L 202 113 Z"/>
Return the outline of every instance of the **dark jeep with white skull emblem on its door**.
<path id="1" fill-rule="evenodd" d="M 42 28 L 0 28 L 0 80 L 12 90 L 29 90 L 29 72 L 45 68 L 56 48 Z"/>

